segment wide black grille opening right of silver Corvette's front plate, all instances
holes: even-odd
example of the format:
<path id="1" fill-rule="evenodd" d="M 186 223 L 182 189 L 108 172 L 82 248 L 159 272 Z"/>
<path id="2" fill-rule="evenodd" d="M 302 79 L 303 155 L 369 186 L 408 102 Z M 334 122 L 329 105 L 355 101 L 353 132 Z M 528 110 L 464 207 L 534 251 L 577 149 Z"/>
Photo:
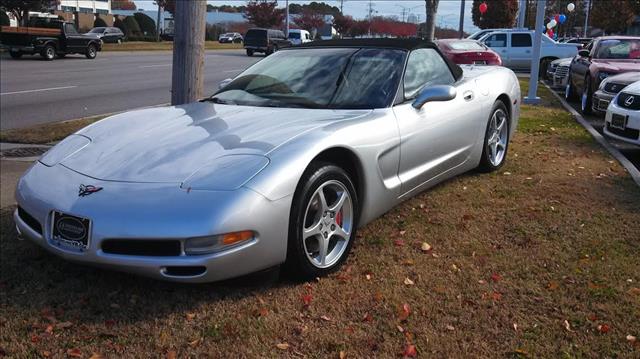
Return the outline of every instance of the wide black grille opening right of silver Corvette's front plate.
<path id="1" fill-rule="evenodd" d="M 109 254 L 150 257 L 174 257 L 181 253 L 178 240 L 107 239 L 102 251 Z"/>

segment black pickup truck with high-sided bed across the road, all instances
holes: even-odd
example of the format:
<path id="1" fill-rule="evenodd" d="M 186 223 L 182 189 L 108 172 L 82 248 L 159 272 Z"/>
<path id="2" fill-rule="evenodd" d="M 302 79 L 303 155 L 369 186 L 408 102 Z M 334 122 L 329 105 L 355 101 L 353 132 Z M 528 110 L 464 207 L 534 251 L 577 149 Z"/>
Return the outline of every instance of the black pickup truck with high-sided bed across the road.
<path id="1" fill-rule="evenodd" d="M 3 26 L 0 29 L 0 44 L 8 48 L 14 59 L 24 54 L 40 54 L 45 60 L 53 60 L 56 55 L 83 54 L 95 59 L 102 50 L 100 39 L 78 33 L 71 22 L 60 20 L 30 23 L 25 27 Z"/>

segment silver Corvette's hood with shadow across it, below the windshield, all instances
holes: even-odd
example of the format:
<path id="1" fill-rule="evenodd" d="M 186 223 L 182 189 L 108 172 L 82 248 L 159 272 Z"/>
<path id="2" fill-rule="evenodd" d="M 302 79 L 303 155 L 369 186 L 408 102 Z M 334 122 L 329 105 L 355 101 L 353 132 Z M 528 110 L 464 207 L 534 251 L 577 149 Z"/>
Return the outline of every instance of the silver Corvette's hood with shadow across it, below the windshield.
<path id="1" fill-rule="evenodd" d="M 60 164 L 100 180 L 182 182 L 220 157 L 267 156 L 307 131 L 369 112 L 206 102 L 131 111 L 79 131 L 90 143 Z"/>

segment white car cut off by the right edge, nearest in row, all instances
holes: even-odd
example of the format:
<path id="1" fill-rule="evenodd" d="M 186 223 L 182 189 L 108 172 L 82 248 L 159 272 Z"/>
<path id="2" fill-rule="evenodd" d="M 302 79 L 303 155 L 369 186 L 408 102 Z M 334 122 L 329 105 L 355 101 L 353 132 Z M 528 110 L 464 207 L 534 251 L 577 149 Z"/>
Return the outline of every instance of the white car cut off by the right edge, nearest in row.
<path id="1" fill-rule="evenodd" d="M 640 81 L 625 87 L 607 108 L 604 134 L 640 146 Z"/>

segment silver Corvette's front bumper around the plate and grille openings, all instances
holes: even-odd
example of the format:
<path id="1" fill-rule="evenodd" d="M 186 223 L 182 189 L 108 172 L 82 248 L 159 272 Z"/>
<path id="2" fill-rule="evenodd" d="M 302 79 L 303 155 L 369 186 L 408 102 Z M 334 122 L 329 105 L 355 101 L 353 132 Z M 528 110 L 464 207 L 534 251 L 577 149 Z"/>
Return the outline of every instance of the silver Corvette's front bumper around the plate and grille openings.
<path id="1" fill-rule="evenodd" d="M 103 187 L 79 197 L 78 186 Z M 18 211 L 18 233 L 66 260 L 178 282 L 212 282 L 241 276 L 284 262 L 291 196 L 270 201 L 246 188 L 236 191 L 186 191 L 179 184 L 95 180 L 62 165 L 36 163 L 18 182 L 18 205 L 41 225 L 29 225 Z M 80 250 L 52 239 L 52 211 L 91 219 L 88 247 Z M 31 222 L 32 223 L 32 222 Z M 235 231 L 256 236 L 222 252 L 174 256 L 107 253 L 106 240 L 180 241 Z M 176 268 L 178 270 L 176 270 Z M 180 268 L 199 268 L 196 274 Z M 179 274 L 176 274 L 179 273 Z"/>

